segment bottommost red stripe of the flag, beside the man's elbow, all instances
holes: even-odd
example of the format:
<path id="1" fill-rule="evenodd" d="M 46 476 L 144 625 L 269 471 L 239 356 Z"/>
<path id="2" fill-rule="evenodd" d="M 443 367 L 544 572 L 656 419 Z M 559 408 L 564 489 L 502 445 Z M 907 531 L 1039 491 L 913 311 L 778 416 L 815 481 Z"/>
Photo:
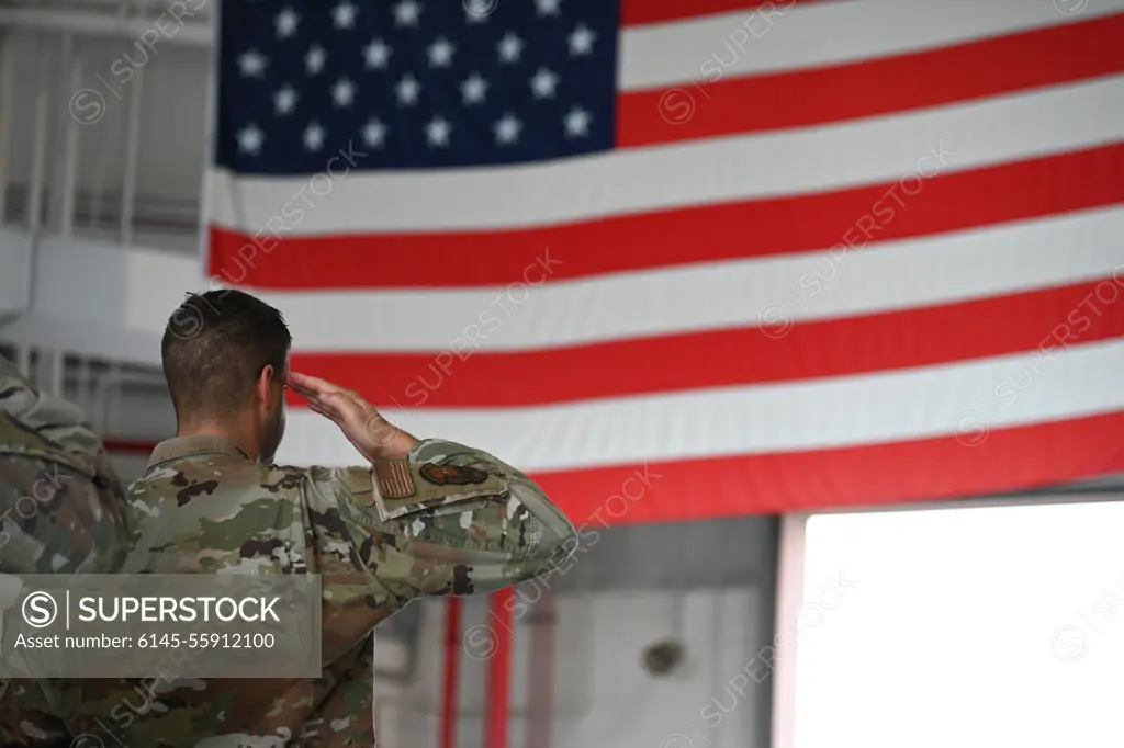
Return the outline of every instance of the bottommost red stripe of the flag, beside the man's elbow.
<path id="1" fill-rule="evenodd" d="M 1017 428 L 996 421 L 960 438 L 532 477 L 584 535 L 606 526 L 939 501 L 1087 480 L 1124 469 L 1122 430 L 1117 411 Z"/>

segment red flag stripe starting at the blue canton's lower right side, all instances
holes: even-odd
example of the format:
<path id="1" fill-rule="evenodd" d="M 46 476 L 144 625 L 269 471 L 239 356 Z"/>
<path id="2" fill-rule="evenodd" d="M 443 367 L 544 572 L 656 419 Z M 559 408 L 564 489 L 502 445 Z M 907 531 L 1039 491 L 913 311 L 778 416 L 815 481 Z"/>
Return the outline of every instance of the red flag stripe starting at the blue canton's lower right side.
<path id="1" fill-rule="evenodd" d="M 1124 70 L 1121 39 L 1124 13 L 883 60 L 726 80 L 722 65 L 708 58 L 690 71 L 699 79 L 695 84 L 623 93 L 617 144 L 842 122 L 1073 83 Z M 715 54 L 732 61 L 747 53 Z"/>

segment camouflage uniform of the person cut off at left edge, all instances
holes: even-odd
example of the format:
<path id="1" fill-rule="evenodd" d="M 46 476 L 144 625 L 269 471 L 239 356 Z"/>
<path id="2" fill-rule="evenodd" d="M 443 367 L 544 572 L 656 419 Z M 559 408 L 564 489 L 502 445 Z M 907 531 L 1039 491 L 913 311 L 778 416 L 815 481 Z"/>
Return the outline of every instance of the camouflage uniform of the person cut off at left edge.
<path id="1" fill-rule="evenodd" d="M 124 563 L 125 491 L 84 420 L 0 356 L 0 574 L 106 574 Z M 40 736 L 27 745 L 64 738 L 58 686 L 0 682 L 0 745 L 25 745 L 25 728 Z"/>

